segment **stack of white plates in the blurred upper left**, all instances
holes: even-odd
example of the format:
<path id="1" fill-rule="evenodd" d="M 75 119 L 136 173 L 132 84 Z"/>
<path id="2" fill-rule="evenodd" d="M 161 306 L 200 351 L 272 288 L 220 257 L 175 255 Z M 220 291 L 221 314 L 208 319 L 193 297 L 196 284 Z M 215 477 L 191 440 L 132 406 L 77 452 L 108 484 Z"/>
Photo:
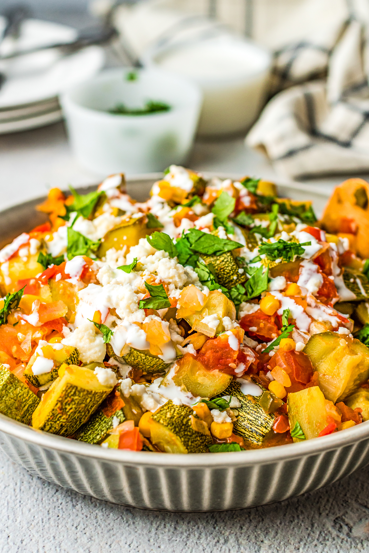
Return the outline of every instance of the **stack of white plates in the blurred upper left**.
<path id="1" fill-rule="evenodd" d="M 4 21 L 0 18 L 0 36 Z M 71 27 L 28 19 L 17 41 L 5 39 L 0 56 L 14 49 L 70 42 L 77 32 Z M 0 134 L 25 131 L 60 121 L 58 95 L 66 88 L 89 79 L 104 64 L 103 49 L 88 46 L 71 55 L 43 50 L 0 61 L 6 81 L 0 88 Z"/>

